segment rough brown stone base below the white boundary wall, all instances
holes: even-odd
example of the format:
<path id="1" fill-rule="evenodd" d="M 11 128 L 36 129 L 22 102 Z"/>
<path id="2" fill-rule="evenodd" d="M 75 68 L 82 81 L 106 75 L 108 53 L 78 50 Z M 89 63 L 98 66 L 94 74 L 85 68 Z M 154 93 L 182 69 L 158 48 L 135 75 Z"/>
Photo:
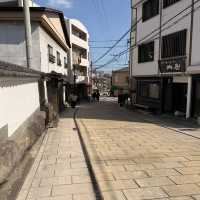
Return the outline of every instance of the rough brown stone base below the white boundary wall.
<path id="1" fill-rule="evenodd" d="M 15 133 L 0 141 L 0 184 L 7 181 L 10 173 L 45 131 L 45 112 L 36 110 Z"/>

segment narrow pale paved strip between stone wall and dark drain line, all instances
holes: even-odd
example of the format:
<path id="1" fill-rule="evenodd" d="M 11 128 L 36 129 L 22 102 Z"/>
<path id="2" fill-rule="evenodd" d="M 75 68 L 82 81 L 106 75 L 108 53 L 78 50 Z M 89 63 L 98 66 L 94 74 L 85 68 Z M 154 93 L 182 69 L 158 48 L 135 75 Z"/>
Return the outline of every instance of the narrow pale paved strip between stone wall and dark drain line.
<path id="1" fill-rule="evenodd" d="M 73 111 L 49 129 L 17 200 L 95 199 Z"/>

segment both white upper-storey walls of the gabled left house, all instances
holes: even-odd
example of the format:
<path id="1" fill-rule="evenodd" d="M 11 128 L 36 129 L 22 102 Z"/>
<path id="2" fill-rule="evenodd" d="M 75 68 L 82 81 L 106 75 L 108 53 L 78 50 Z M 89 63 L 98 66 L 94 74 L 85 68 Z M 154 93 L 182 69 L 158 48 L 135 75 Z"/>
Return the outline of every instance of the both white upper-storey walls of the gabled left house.
<path id="1" fill-rule="evenodd" d="M 56 51 L 60 52 L 62 66 L 58 66 L 57 62 L 49 63 L 48 44 L 53 47 L 55 57 Z M 20 66 L 27 65 L 25 30 L 22 22 L 0 22 L 0 49 L 0 60 Z M 38 23 L 32 23 L 32 68 L 46 73 L 56 71 L 67 75 L 64 57 L 67 58 L 67 53 L 60 45 Z"/>

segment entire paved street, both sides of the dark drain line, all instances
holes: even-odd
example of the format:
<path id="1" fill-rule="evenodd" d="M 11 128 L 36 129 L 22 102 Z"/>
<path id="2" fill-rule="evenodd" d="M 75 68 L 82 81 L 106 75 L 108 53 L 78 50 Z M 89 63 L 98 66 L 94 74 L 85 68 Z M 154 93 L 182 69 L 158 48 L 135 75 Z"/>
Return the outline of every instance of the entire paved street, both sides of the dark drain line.
<path id="1" fill-rule="evenodd" d="M 81 136 L 73 110 L 48 131 L 17 200 L 200 199 L 199 139 L 112 98 L 81 105 L 76 120 Z"/>

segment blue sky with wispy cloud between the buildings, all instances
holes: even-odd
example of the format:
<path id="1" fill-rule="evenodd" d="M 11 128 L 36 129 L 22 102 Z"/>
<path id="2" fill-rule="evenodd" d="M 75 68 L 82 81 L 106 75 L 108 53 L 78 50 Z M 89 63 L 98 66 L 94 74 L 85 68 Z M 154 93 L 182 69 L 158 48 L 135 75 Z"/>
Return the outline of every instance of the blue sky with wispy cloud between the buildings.
<path id="1" fill-rule="evenodd" d="M 35 0 L 41 6 L 62 10 L 67 18 L 80 20 L 90 34 L 90 53 L 95 61 L 118 40 L 129 28 L 131 22 L 130 0 Z M 102 65 L 113 55 L 127 49 L 129 34 L 113 49 L 108 56 L 95 65 Z M 99 48 L 103 47 L 103 48 Z M 101 70 L 112 71 L 128 63 L 128 54 Z"/>

